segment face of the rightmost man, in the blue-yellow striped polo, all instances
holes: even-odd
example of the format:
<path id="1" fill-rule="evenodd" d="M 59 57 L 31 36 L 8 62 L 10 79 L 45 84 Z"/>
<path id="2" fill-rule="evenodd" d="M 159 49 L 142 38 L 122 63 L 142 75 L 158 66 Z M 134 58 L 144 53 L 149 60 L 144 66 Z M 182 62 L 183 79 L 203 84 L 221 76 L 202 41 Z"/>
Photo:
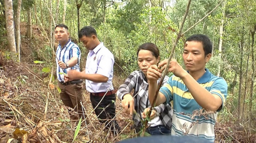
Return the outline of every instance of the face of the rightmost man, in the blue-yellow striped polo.
<path id="1" fill-rule="evenodd" d="M 187 41 L 182 54 L 183 62 L 188 72 L 204 70 L 205 64 L 210 60 L 211 54 L 204 55 L 202 42 Z"/>

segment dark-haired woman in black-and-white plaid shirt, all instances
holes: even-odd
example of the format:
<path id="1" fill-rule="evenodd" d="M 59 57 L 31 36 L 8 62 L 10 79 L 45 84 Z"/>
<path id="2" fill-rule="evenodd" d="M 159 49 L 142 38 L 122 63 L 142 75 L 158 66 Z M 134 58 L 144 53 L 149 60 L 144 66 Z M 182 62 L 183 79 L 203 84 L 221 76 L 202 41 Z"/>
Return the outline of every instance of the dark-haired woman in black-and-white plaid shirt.
<path id="1" fill-rule="evenodd" d="M 151 106 L 148 99 L 148 80 L 145 75 L 147 75 L 147 69 L 151 65 L 159 63 L 159 53 L 159 49 L 155 44 L 142 44 L 137 51 L 138 66 L 141 70 L 132 72 L 117 92 L 118 98 L 122 101 L 122 107 L 126 112 L 130 111 L 132 115 L 134 121 L 132 128 L 135 128 L 136 132 L 141 129 L 141 120 L 144 120 Z M 168 78 L 168 76 L 164 77 L 163 85 L 168 81 Z M 159 82 L 160 79 L 157 83 Z M 132 89 L 134 89 L 133 96 L 130 94 Z M 133 114 L 133 111 L 136 114 Z M 172 114 L 173 111 L 169 104 L 161 104 L 154 107 L 150 115 L 151 120 L 148 122 L 147 132 L 151 135 L 170 134 Z"/>

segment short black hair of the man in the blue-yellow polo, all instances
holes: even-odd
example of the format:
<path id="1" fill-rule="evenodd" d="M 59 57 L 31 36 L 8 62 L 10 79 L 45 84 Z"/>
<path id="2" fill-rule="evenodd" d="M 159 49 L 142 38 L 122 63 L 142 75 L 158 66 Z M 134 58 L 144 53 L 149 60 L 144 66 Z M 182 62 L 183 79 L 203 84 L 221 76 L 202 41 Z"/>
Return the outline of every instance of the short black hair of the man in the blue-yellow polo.
<path id="1" fill-rule="evenodd" d="M 187 41 L 197 41 L 203 44 L 204 56 L 212 54 L 212 42 L 210 38 L 203 34 L 194 34 L 187 38 Z"/>

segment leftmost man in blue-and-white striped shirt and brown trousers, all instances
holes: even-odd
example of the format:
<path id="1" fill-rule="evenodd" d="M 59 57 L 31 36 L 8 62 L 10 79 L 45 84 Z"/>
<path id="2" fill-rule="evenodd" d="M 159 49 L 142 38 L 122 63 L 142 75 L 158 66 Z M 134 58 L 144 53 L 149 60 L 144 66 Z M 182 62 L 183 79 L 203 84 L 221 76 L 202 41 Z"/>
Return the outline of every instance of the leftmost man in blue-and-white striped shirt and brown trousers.
<path id="1" fill-rule="evenodd" d="M 56 50 L 56 63 L 57 63 L 57 78 L 58 87 L 60 88 L 60 99 L 62 99 L 65 106 L 75 108 L 79 116 L 70 115 L 71 119 L 78 119 L 82 116 L 82 81 L 64 81 L 64 74 L 69 70 L 74 69 L 80 71 L 79 63 L 81 58 L 81 51 L 79 47 L 71 42 L 69 39 L 68 27 L 64 24 L 56 25 L 55 38 L 59 42 Z M 69 109 L 70 111 L 70 109 Z"/>

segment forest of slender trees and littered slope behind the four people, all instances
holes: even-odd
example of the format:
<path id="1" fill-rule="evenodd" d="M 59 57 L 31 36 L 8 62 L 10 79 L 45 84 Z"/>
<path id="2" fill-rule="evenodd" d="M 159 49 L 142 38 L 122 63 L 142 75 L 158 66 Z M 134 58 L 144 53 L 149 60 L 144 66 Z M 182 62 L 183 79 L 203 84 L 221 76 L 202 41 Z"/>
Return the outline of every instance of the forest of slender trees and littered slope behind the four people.
<path id="1" fill-rule="evenodd" d="M 11 133 L 22 141 L 79 142 L 105 138 L 104 141 L 113 142 L 134 137 L 125 130 L 131 117 L 123 113 L 117 101 L 123 134 L 106 139 L 109 134 L 96 133 L 99 137 L 96 138 L 90 131 L 100 129 L 92 116 L 93 127 L 81 128 L 74 140 L 72 133 L 77 128 L 71 127 L 68 116 L 62 116 L 67 113 L 58 98 L 54 79 L 54 53 L 58 44 L 54 40 L 54 27 L 60 23 L 68 25 L 72 41 L 81 48 L 83 69 L 88 51 L 78 40 L 78 30 L 92 25 L 100 41 L 114 54 L 114 86 L 118 88 L 127 75 L 138 69 L 137 48 L 142 43 L 155 43 L 161 59 L 168 59 L 186 5 L 185 0 L 0 0 L 2 140 L 13 139 Z M 183 29 L 183 32 L 190 30 L 182 35 L 173 57 L 183 64 L 185 38 L 206 34 L 214 45 L 213 57 L 206 67 L 228 83 L 227 102 L 215 127 L 216 142 L 255 142 L 256 1 L 194 0 Z M 88 96 L 85 100 L 89 106 Z M 56 108 L 58 112 L 54 111 Z M 24 129 L 22 134 L 28 133 L 28 137 L 18 134 L 23 131 L 15 132 L 15 127 Z M 81 133 L 84 130 L 86 133 Z"/>

